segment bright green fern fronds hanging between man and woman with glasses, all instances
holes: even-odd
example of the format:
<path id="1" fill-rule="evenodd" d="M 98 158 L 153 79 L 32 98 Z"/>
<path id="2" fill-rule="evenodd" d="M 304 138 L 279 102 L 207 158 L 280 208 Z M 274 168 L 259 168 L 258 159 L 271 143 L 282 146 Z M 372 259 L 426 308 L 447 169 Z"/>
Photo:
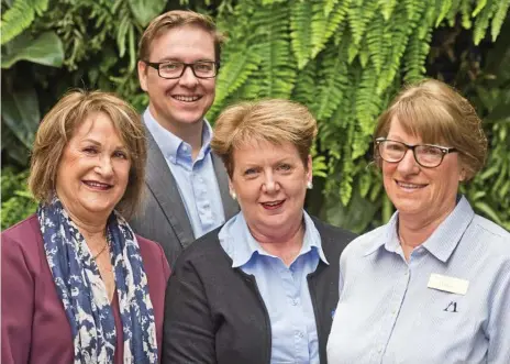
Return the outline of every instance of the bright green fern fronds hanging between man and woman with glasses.
<path id="1" fill-rule="evenodd" d="M 214 119 L 241 99 L 291 98 L 319 123 L 315 157 L 328 178 L 309 208 L 347 229 L 387 221 L 391 203 L 369 167 L 377 115 L 403 82 L 424 77 L 435 29 L 459 20 L 496 41 L 508 0 L 240 1 L 217 20 L 229 32 Z M 318 179 L 315 177 L 315 179 Z M 317 195 L 315 195 L 317 197 Z M 363 211 L 357 213 L 358 211 Z"/>

